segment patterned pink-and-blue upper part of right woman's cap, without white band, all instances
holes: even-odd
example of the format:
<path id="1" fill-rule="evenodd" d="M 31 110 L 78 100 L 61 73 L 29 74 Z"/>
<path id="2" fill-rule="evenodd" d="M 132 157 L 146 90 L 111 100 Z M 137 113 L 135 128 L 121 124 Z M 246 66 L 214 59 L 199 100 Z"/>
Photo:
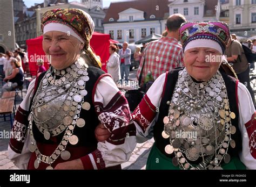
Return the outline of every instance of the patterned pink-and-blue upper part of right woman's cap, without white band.
<path id="1" fill-rule="evenodd" d="M 180 27 L 181 45 L 185 49 L 188 42 L 196 39 L 209 39 L 218 42 L 223 53 L 230 40 L 228 25 L 221 21 L 214 22 L 186 22 Z"/>

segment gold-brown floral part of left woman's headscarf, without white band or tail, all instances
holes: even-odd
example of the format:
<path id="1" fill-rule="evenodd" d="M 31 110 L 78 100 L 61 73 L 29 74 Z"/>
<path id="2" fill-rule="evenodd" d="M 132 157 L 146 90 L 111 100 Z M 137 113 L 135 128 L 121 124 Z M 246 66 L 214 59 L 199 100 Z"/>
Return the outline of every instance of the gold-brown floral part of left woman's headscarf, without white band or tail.
<path id="1" fill-rule="evenodd" d="M 90 20 L 84 11 L 80 9 L 53 9 L 46 11 L 41 19 L 41 28 L 49 23 L 60 23 L 69 26 L 85 42 L 92 37 L 93 28 L 90 27 Z"/>

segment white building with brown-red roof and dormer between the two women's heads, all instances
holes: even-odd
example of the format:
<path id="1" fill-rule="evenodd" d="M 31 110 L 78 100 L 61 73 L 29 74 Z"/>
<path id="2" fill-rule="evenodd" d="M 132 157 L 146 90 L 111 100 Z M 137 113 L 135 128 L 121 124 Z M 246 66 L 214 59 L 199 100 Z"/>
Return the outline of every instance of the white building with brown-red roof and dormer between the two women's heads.
<path id="1" fill-rule="evenodd" d="M 104 33 L 119 42 L 138 41 L 165 30 L 168 0 L 139 0 L 111 3 L 103 21 Z"/>

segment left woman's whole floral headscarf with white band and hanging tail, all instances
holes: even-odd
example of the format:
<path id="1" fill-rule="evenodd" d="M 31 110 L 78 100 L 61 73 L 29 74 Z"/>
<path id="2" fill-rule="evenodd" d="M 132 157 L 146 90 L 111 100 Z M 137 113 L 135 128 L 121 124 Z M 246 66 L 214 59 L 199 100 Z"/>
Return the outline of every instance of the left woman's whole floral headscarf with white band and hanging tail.
<path id="1" fill-rule="evenodd" d="M 90 39 L 95 28 L 91 16 L 80 9 L 53 9 L 46 11 L 41 19 L 43 33 L 62 31 L 69 33 L 83 42 L 84 52 L 92 65 L 101 68 L 101 62 L 90 47 Z"/>

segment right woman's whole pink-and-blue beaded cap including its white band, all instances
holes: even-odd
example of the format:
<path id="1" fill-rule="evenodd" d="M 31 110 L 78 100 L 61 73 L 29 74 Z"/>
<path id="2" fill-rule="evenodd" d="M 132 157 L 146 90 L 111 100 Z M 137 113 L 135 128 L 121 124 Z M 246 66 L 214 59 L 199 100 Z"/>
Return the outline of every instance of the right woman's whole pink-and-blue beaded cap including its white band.
<path id="1" fill-rule="evenodd" d="M 221 21 L 186 22 L 179 31 L 184 52 L 193 47 L 211 47 L 224 54 L 230 40 L 228 25 Z"/>

